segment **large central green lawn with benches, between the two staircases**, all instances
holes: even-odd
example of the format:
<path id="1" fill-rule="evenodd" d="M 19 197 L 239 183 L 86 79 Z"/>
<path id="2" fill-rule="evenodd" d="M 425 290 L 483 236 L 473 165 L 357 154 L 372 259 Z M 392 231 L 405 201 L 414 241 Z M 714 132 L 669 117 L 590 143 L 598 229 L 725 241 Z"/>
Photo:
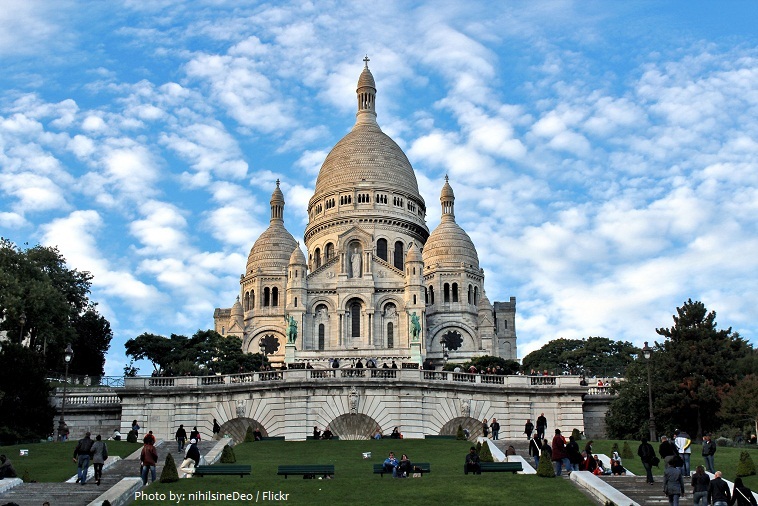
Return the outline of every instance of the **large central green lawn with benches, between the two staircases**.
<path id="1" fill-rule="evenodd" d="M 264 441 L 234 447 L 238 463 L 251 464 L 253 475 L 244 478 L 206 476 L 156 483 L 145 493 L 165 494 L 165 500 L 150 498 L 154 504 L 177 504 L 176 494 L 185 494 L 181 504 L 210 504 L 208 500 L 189 500 L 190 493 L 264 491 L 283 492 L 287 504 L 381 504 L 413 505 L 519 504 L 520 506 L 593 504 L 566 479 L 538 478 L 534 475 L 490 473 L 464 475 L 463 462 L 470 443 L 454 440 L 381 441 Z M 372 465 L 384 461 L 392 450 L 399 457 L 407 453 L 411 462 L 431 463 L 431 474 L 423 478 L 393 479 L 372 474 Z M 362 453 L 372 452 L 371 459 Z M 299 476 L 277 476 L 279 464 L 334 464 L 333 480 L 304 480 Z M 171 494 L 174 494 L 173 501 Z M 145 498 L 144 500 L 148 500 Z M 255 500 L 254 498 L 252 499 Z M 260 496 L 263 502 L 263 497 Z M 141 501 L 135 501 L 139 504 Z M 212 501 L 214 505 L 239 505 L 237 501 Z"/>

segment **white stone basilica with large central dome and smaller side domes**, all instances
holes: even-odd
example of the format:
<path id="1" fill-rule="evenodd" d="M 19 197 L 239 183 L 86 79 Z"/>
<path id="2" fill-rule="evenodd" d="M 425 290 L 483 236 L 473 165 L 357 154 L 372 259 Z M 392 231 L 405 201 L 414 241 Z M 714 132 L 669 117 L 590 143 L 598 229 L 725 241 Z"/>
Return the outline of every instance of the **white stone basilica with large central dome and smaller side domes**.
<path id="1" fill-rule="evenodd" d="M 413 167 L 376 122 L 367 60 L 356 91 L 355 126 L 324 160 L 308 204 L 307 259 L 284 227 L 277 181 L 271 223 L 250 250 L 237 301 L 216 309 L 216 331 L 274 365 L 515 360 L 516 299 L 487 299 L 447 177 L 430 234 Z"/>

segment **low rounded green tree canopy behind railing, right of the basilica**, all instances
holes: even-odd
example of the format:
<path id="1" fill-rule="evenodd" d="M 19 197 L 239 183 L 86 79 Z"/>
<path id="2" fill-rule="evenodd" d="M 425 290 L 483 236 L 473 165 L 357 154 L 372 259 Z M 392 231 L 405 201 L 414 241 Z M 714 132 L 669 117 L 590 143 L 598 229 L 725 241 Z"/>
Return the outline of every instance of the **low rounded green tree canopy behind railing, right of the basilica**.
<path id="1" fill-rule="evenodd" d="M 555 339 L 524 357 L 523 370 L 568 372 L 583 376 L 620 376 L 639 353 L 627 341 L 607 337 Z"/>

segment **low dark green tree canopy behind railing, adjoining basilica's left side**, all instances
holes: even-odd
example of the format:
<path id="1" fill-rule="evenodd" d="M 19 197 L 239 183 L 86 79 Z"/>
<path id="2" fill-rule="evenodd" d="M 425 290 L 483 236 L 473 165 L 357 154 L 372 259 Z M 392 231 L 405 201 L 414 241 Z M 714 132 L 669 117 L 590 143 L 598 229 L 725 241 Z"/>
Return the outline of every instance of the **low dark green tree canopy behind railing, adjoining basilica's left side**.
<path id="1" fill-rule="evenodd" d="M 266 359 L 259 353 L 244 353 L 242 341 L 214 330 L 198 330 L 192 337 L 164 337 L 144 333 L 126 342 L 126 354 L 134 360 L 149 360 L 157 374 L 234 374 L 259 371 Z"/>

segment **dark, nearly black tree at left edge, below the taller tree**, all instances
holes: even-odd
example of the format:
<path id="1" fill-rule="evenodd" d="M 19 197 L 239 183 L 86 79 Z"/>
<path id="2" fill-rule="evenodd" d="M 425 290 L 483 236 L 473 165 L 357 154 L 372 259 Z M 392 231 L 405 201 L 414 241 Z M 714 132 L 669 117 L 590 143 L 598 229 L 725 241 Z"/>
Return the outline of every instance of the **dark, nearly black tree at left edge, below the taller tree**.
<path id="1" fill-rule="evenodd" d="M 45 379 L 42 356 L 15 343 L 0 347 L 0 440 L 47 437 L 53 429 L 55 409 Z"/>

